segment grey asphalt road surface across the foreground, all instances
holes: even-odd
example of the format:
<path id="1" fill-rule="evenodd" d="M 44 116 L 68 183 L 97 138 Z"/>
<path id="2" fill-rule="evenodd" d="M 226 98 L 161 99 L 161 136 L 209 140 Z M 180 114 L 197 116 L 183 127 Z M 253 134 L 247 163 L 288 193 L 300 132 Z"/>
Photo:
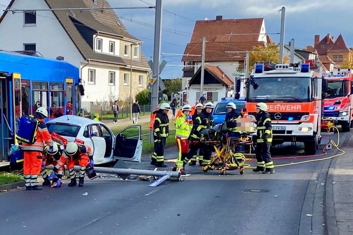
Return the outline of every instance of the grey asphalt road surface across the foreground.
<path id="1" fill-rule="evenodd" d="M 342 133 L 341 140 L 347 135 Z M 301 154 L 302 149 L 284 146 L 275 152 L 277 157 Z M 168 149 L 165 156 L 176 154 L 176 149 Z M 143 160 L 132 167 L 151 169 Z M 275 164 L 301 160 L 275 160 Z M 191 175 L 186 180 L 166 181 L 156 188 L 146 181 L 103 178 L 86 180 L 83 188 L 65 183 L 43 191 L 1 193 L 0 234 L 298 234 L 317 163 L 278 167 L 269 175 L 246 169 L 244 175 L 229 171 L 221 176 L 219 171 L 202 173 L 197 166 L 187 167 Z"/>

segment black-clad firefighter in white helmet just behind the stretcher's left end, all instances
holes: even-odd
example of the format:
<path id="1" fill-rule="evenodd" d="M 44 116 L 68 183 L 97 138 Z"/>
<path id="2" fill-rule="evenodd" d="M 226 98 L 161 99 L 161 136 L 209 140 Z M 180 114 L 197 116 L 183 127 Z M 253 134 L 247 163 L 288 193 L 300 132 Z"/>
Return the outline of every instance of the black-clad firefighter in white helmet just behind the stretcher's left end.
<path id="1" fill-rule="evenodd" d="M 213 116 L 212 116 L 212 110 L 214 109 L 214 105 L 212 102 L 207 102 L 204 107 L 204 111 L 200 115 L 201 123 L 199 126 L 196 128 L 196 135 L 200 138 L 202 138 L 202 135 L 200 134 L 200 131 L 202 129 L 209 129 L 213 127 Z M 207 166 L 208 164 L 211 163 L 211 154 L 212 154 L 212 148 L 203 146 L 203 160 L 202 160 L 202 167 Z"/>

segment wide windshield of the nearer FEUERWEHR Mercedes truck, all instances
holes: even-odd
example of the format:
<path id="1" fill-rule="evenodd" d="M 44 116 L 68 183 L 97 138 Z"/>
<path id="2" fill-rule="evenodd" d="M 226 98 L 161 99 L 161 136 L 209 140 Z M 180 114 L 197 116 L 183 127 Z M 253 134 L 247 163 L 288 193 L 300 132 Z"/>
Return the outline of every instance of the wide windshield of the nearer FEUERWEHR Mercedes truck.
<path id="1" fill-rule="evenodd" d="M 303 101 L 311 97 L 311 78 L 255 78 L 249 85 L 248 99 L 266 101 Z"/>

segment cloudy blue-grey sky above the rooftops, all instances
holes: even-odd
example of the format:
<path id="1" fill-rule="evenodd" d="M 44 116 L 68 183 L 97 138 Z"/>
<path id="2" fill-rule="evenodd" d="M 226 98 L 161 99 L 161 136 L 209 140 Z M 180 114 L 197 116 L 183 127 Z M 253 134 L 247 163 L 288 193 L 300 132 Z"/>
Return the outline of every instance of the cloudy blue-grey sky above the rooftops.
<path id="1" fill-rule="evenodd" d="M 155 2 L 154 0 L 143 1 L 150 4 Z M 9 2 L 10 0 L 0 0 L 1 12 L 5 8 L 1 5 L 8 5 Z M 112 7 L 148 6 L 140 0 L 109 0 L 109 3 Z M 336 39 L 342 33 L 348 47 L 353 47 L 352 0 L 164 0 L 163 5 L 165 10 L 191 19 L 163 11 L 163 27 L 167 28 L 167 31 L 162 31 L 162 52 L 164 53 L 183 54 L 186 43 L 190 42 L 194 20 L 215 19 L 216 15 L 222 15 L 223 19 L 265 17 L 267 33 L 280 32 L 281 13 L 278 14 L 275 11 L 282 6 L 286 7 L 286 43 L 294 38 L 296 47 L 305 47 L 313 45 L 315 34 L 319 34 L 322 39 L 330 33 Z M 154 9 L 116 10 L 115 12 L 118 16 L 124 17 L 121 21 L 127 30 L 144 42 L 142 52 L 149 60 L 153 55 L 151 39 L 154 38 L 154 29 L 134 21 L 154 24 Z M 172 30 L 179 34 L 168 32 Z M 279 42 L 279 36 L 271 35 L 271 37 L 276 43 Z M 168 56 L 164 57 L 164 60 L 170 65 L 182 64 L 180 56 Z M 180 77 L 181 68 L 166 66 L 161 76 L 162 78 Z"/>

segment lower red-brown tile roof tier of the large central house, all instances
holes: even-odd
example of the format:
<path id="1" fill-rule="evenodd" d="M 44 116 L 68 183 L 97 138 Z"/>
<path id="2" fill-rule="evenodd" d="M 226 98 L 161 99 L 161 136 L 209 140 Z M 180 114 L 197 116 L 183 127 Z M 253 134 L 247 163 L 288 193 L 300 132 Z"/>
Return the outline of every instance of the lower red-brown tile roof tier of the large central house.
<path id="1" fill-rule="evenodd" d="M 263 46 L 264 42 L 208 42 L 206 43 L 205 61 L 240 61 L 246 52 L 235 54 L 226 51 L 250 51 L 253 47 Z M 184 54 L 201 55 L 202 43 L 188 43 Z M 201 61 L 201 56 L 183 56 L 181 61 Z"/>

